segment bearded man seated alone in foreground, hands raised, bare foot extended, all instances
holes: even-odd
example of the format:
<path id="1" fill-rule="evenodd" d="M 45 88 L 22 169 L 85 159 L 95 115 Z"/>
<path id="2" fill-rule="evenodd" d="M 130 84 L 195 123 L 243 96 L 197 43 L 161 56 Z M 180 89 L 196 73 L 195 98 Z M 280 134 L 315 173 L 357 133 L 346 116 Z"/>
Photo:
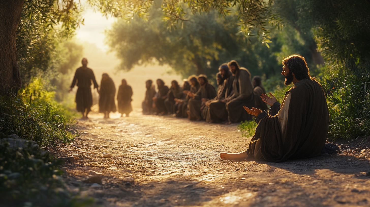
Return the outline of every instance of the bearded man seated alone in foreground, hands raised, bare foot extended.
<path id="1" fill-rule="evenodd" d="M 269 113 L 260 109 L 245 110 L 256 116 L 255 135 L 246 152 L 221 153 L 221 159 L 252 158 L 268 162 L 283 162 L 320 155 L 329 126 L 329 113 L 322 86 L 310 77 L 305 58 L 290 55 L 283 61 L 285 85 L 293 83 L 282 104 L 270 93 L 262 100 L 271 106 Z M 330 147 L 333 147 L 333 144 Z M 335 145 L 334 145 L 335 146 Z"/>

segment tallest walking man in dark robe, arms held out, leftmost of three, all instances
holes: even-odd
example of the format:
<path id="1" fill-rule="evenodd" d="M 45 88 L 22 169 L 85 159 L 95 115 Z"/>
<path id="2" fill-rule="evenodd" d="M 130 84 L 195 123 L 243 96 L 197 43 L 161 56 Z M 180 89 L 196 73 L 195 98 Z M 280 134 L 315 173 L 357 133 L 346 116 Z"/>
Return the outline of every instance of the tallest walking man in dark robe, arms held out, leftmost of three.
<path id="1" fill-rule="evenodd" d="M 92 69 L 87 67 L 87 59 L 82 59 L 82 67 L 77 68 L 74 74 L 71 88 L 68 92 L 71 92 L 77 81 L 77 93 L 76 93 L 76 109 L 82 113 L 82 118 L 87 119 L 88 113 L 91 111 L 92 106 L 92 95 L 91 95 L 91 80 L 94 83 L 94 88 L 100 93 L 99 86 L 95 80 L 94 72 Z"/>

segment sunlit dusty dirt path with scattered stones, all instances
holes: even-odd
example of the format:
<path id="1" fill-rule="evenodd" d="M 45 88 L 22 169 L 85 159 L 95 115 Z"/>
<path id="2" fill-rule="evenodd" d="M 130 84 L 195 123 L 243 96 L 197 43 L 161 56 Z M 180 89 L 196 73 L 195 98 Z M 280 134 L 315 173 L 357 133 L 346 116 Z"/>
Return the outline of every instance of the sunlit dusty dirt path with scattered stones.
<path id="1" fill-rule="evenodd" d="M 361 173 L 370 170 L 369 159 L 355 156 L 352 149 L 285 163 L 223 161 L 220 152 L 240 152 L 248 145 L 236 125 L 138 112 L 128 118 L 100 117 L 92 114 L 79 121 L 81 139 L 59 145 L 54 153 L 84 158 L 62 166 L 68 168 L 64 179 L 72 191 L 81 187 L 83 196 L 95 197 L 102 206 L 370 204 L 370 180 Z M 111 158 L 103 161 L 104 153 Z M 100 186 L 82 182 L 89 170 L 102 173 Z M 127 177 L 134 181 L 127 183 Z"/>

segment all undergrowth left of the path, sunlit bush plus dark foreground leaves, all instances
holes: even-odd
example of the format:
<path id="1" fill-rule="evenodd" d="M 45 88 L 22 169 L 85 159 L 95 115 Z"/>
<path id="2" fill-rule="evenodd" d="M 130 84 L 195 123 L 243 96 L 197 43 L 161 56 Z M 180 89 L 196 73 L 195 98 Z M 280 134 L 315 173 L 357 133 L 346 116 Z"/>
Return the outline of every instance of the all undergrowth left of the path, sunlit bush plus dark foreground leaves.
<path id="1" fill-rule="evenodd" d="M 40 146 L 71 142 L 74 119 L 54 101 L 54 92 L 34 79 L 17 98 L 0 99 L 0 207 L 86 206 L 92 200 L 73 196 L 55 160 Z M 14 139 L 18 138 L 22 139 Z"/>

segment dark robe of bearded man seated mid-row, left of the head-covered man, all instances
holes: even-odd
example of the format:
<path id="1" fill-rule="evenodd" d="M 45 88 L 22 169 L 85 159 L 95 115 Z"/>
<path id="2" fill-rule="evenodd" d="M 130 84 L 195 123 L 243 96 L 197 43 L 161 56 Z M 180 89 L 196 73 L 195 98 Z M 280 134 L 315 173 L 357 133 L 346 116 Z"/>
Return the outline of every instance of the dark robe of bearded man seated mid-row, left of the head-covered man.
<path id="1" fill-rule="evenodd" d="M 216 90 L 212 84 L 208 82 L 202 85 L 199 90 L 196 92 L 192 99 L 189 99 L 188 108 L 190 111 L 190 120 L 195 120 L 197 116 L 201 117 L 201 107 L 204 103 L 202 103 L 201 99 L 213 99 L 216 97 Z"/>

